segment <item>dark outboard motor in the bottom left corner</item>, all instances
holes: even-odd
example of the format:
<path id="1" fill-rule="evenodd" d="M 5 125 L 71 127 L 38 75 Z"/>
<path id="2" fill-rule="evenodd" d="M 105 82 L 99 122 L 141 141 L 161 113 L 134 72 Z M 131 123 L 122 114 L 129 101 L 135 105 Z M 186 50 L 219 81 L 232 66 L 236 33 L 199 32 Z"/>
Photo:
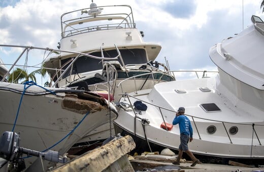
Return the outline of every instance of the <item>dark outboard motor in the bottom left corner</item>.
<path id="1" fill-rule="evenodd" d="M 0 138 L 0 172 L 7 171 L 8 162 L 11 162 L 12 171 L 21 171 L 25 169 L 25 162 L 22 154 L 42 157 L 51 162 L 65 163 L 67 158 L 59 158 L 59 153 L 48 150 L 39 152 L 35 150 L 19 147 L 20 137 L 15 132 L 5 132 Z"/>

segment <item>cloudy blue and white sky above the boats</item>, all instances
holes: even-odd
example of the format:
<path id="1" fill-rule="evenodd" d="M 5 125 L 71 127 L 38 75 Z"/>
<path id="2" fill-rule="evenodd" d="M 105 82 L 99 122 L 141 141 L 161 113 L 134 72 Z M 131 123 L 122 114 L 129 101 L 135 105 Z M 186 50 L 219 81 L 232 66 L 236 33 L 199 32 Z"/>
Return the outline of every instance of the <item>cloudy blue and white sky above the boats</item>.
<path id="1" fill-rule="evenodd" d="M 264 19 L 262 0 L 94 0 L 97 6 L 130 5 L 144 40 L 162 46 L 157 61 L 171 70 L 216 70 L 209 49 Z M 0 44 L 57 49 L 60 16 L 88 8 L 84 0 L 0 0 Z M 3 59 L 5 54 L 0 53 Z M 11 58 L 11 57 L 9 57 Z"/>

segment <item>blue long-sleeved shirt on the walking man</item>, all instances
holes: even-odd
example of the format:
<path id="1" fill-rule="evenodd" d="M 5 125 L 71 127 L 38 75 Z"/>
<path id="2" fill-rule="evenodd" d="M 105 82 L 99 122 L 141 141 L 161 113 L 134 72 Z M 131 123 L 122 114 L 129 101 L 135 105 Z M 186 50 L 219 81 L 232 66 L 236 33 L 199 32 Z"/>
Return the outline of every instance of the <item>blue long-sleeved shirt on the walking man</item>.
<path id="1" fill-rule="evenodd" d="M 188 135 L 192 138 L 192 127 L 189 118 L 185 115 L 175 116 L 172 124 L 176 125 L 179 123 L 180 133 Z"/>

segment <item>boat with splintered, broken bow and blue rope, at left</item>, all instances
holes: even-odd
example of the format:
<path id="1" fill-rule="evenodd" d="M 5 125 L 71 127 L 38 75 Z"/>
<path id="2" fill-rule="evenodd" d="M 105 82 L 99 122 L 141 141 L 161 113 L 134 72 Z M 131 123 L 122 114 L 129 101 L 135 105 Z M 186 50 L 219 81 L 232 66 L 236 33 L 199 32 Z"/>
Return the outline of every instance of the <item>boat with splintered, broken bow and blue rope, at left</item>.
<path id="1" fill-rule="evenodd" d="M 12 72 L 12 76 L 8 75 L 14 67 L 22 66 L 28 71 L 30 67 L 36 68 L 31 62 L 39 55 L 38 50 L 43 51 L 44 55 L 54 52 L 49 48 L 1 45 L 1 50 L 5 48 L 9 51 L 19 51 L 21 48 L 22 50 L 0 82 L 0 133 L 19 133 L 22 147 L 40 152 L 58 151 L 62 156 L 82 137 L 117 117 L 114 105 L 105 98 L 85 90 L 42 87 L 33 81 L 21 84 L 12 83 L 12 80 L 5 81 L 8 76 L 19 82 L 15 72 Z M 75 52 L 75 55 L 79 56 L 80 53 Z M 26 61 L 23 61 L 23 57 Z M 39 68 L 42 69 L 43 66 Z M 24 160 L 28 166 L 36 158 L 24 157 Z M 53 164 L 46 164 L 46 169 L 50 165 Z"/>

